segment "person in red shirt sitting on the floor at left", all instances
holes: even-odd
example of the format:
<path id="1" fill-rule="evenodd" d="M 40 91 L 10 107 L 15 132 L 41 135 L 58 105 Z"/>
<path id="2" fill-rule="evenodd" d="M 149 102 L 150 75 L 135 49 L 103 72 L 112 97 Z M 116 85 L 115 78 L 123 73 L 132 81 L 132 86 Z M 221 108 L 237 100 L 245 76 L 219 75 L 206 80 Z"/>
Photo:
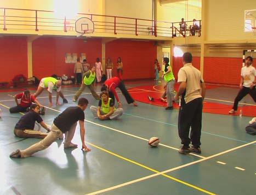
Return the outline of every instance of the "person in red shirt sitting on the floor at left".
<path id="1" fill-rule="evenodd" d="M 27 108 L 29 108 L 32 103 L 36 103 L 39 107 L 43 107 L 43 105 L 41 105 L 32 94 L 30 94 L 29 90 L 15 94 L 14 98 L 17 105 L 16 107 L 10 108 L 10 113 L 26 112 Z M 20 99 L 20 103 L 18 102 L 18 99 Z"/>

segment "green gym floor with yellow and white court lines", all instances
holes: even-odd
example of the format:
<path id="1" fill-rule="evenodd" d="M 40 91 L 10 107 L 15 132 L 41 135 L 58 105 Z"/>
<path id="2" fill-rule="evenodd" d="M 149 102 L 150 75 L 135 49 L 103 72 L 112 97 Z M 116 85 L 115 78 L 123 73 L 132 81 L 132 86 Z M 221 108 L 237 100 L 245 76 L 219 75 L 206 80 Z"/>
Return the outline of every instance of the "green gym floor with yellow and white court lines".
<path id="1" fill-rule="evenodd" d="M 155 82 L 126 82 L 128 88 L 149 84 Z M 51 125 L 62 110 L 76 105 L 72 97 L 77 90 L 78 87 L 62 88 L 69 103 L 47 108 L 42 116 L 44 122 Z M 227 90 L 225 104 L 231 104 L 227 100 L 233 101 L 237 90 Z M 96 91 L 100 91 L 100 85 Z M 18 91 L 0 92 L 0 194 L 256 193 L 256 136 L 244 131 L 252 117 L 203 113 L 201 155 L 180 155 L 178 110 L 164 110 L 140 102 L 138 107 L 133 107 L 120 94 L 124 114 L 117 121 L 99 121 L 89 108 L 85 111 L 86 141 L 91 152 L 80 149 L 77 127 L 72 141 L 78 144 L 75 150 L 64 150 L 62 140 L 57 140 L 32 157 L 12 159 L 9 158 L 11 152 L 39 141 L 17 138 L 13 134 L 22 116 L 10 114 L 8 110 L 15 105 L 12 96 L 16 93 Z M 209 89 L 207 94 L 224 98 L 218 88 Z M 81 97 L 86 97 L 90 105 L 98 105 L 88 88 Z M 251 97 L 245 99 L 255 105 Z M 38 101 L 47 106 L 47 92 L 44 91 Z M 38 128 L 36 125 L 35 129 Z M 44 131 L 42 127 L 41 131 Z M 149 147 L 150 137 L 160 138 L 160 145 Z"/>

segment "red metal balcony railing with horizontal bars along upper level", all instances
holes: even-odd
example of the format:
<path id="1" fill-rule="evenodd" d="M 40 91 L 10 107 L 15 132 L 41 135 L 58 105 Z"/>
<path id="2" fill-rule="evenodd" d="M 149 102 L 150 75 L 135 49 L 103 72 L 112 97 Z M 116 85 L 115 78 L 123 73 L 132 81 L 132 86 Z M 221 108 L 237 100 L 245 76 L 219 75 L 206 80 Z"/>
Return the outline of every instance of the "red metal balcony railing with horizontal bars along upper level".
<path id="1" fill-rule="evenodd" d="M 58 17 L 54 11 L 0 8 L 0 28 L 35 31 L 73 31 L 79 17 L 88 17 L 94 22 L 95 32 L 113 34 L 135 34 L 163 37 L 201 36 L 201 20 L 194 28 L 193 21 L 186 21 L 186 28 L 179 22 L 153 21 L 132 17 L 77 13 L 76 18 Z"/>

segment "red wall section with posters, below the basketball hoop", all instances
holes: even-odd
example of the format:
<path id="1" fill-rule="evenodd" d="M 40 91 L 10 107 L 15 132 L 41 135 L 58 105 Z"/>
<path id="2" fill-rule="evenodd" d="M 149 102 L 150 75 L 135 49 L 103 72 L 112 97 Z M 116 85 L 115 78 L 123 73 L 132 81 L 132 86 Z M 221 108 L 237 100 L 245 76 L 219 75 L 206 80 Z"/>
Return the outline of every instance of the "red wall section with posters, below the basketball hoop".
<path id="1" fill-rule="evenodd" d="M 33 75 L 38 79 L 52 74 L 73 75 L 74 64 L 65 63 L 66 53 L 86 53 L 87 61 L 94 65 L 101 58 L 101 39 L 39 38 L 33 42 Z"/>

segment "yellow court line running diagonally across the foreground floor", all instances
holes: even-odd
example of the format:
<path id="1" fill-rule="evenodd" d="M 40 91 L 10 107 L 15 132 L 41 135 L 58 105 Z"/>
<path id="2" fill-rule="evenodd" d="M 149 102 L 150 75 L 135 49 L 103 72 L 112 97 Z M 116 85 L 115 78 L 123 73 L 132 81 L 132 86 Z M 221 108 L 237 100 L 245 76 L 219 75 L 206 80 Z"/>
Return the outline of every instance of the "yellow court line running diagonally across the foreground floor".
<path id="1" fill-rule="evenodd" d="M 186 185 L 186 186 L 195 188 L 195 189 L 198 190 L 198 191 L 201 191 L 201 192 L 204 192 L 204 193 L 207 193 L 207 194 L 214 194 L 214 193 L 212 193 L 212 192 L 209 192 L 209 191 L 207 191 L 207 190 L 204 190 L 203 188 L 194 186 L 194 185 L 189 184 L 189 183 L 187 183 L 187 182 L 185 182 L 185 181 L 179 180 L 179 179 L 177 179 L 177 178 L 174 178 L 174 177 L 172 177 L 172 176 L 169 176 L 169 175 L 166 175 L 166 174 L 164 174 L 164 173 L 162 173 L 162 172 L 159 172 L 158 170 L 155 170 L 155 169 L 152 169 L 152 168 L 150 168 L 150 167 L 147 167 L 147 166 L 145 166 L 144 164 L 140 164 L 140 163 L 138 163 L 138 162 L 136 162 L 136 161 L 133 161 L 133 160 L 131 160 L 131 159 L 129 159 L 129 158 L 126 158 L 126 157 L 117 155 L 117 153 L 114 153 L 114 152 L 111 152 L 111 151 L 109 151 L 109 150 L 106 150 L 106 149 L 104 149 L 104 148 L 102 148 L 102 147 L 96 146 L 96 145 L 94 145 L 94 144 L 92 144 L 92 143 L 89 143 L 88 141 L 86 141 L 86 143 L 89 144 L 89 145 L 91 145 L 91 146 L 93 146 L 93 147 L 96 147 L 96 148 L 99 149 L 99 150 L 102 150 L 102 151 L 104 151 L 104 152 L 107 152 L 107 153 L 109 153 L 110 155 L 113 155 L 113 156 L 116 156 L 116 157 L 118 157 L 118 158 L 121 158 L 121 159 L 123 159 L 124 161 L 128 161 L 128 162 L 130 162 L 130 163 L 136 164 L 136 166 L 143 167 L 143 168 L 145 168 L 145 169 L 147 169 L 147 170 L 150 170 L 151 172 L 155 172 L 155 173 L 157 173 L 158 175 L 162 175 L 162 176 L 164 176 L 164 177 L 166 177 L 166 178 L 169 178 L 169 179 L 171 179 L 171 180 L 177 181 L 177 182 L 179 182 L 179 183 L 181 183 L 181 184 L 184 184 L 184 185 Z M 100 192 L 98 191 L 98 193 L 100 193 Z M 95 194 L 95 192 L 89 193 L 89 194 Z"/>

